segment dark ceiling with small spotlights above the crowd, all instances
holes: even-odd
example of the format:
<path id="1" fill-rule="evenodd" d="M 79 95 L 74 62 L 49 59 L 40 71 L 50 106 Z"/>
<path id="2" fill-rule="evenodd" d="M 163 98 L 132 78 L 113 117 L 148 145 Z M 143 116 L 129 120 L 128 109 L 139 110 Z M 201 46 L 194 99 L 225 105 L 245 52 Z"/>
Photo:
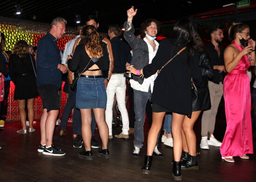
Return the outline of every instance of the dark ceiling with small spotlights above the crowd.
<path id="1" fill-rule="evenodd" d="M 231 2 L 236 3 L 236 0 L 0 0 L 0 16 L 42 23 L 51 23 L 59 16 L 67 20 L 67 26 L 74 27 L 76 14 L 81 16 L 81 24 L 85 23 L 86 16 L 97 14 L 99 29 L 106 31 L 110 24 L 122 25 L 131 6 L 138 8 L 133 21 L 137 27 L 147 18 L 160 22 L 176 20 Z M 14 14 L 15 4 L 22 8 L 20 15 Z"/>

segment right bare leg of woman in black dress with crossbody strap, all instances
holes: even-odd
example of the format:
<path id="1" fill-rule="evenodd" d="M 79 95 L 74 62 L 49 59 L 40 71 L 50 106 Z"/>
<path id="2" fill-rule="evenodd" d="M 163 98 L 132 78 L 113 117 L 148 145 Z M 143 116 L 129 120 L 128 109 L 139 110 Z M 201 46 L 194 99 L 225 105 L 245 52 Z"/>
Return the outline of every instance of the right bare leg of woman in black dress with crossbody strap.
<path id="1" fill-rule="evenodd" d="M 179 162 L 182 156 L 182 123 L 184 115 L 173 112 L 172 115 L 172 136 L 174 161 Z"/>

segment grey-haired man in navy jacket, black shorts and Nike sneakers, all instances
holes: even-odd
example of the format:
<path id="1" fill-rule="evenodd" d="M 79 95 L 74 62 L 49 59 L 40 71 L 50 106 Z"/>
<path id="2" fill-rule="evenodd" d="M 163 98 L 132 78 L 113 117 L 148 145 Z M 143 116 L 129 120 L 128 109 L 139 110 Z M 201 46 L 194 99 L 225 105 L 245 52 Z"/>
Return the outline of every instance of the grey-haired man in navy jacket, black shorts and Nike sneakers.
<path id="1" fill-rule="evenodd" d="M 53 144 L 54 127 L 60 109 L 61 72 L 67 72 L 67 67 L 61 65 L 57 39 L 61 39 L 65 33 L 66 24 L 65 19 L 55 18 L 51 23 L 50 32 L 39 40 L 37 46 L 36 83 L 43 102 L 40 120 L 41 141 L 37 151 L 50 156 L 64 156 L 66 154 Z"/>

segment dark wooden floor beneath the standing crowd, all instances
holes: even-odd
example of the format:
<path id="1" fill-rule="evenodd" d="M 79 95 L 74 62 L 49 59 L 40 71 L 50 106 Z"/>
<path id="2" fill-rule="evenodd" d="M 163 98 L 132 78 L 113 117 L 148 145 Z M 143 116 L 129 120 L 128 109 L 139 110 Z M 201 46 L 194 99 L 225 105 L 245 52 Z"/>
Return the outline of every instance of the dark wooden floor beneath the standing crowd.
<path id="1" fill-rule="evenodd" d="M 109 141 L 110 159 L 96 156 L 94 159 L 79 158 L 79 149 L 72 147 L 72 124 L 68 123 L 67 136 L 58 136 L 59 127 L 54 131 L 54 144 L 66 152 L 65 156 L 44 156 L 37 152 L 40 143 L 40 122 L 34 124 L 35 132 L 27 135 L 17 134 L 20 123 L 6 124 L 0 130 L 0 182 L 170 182 L 173 149 L 159 142 L 159 150 L 164 154 L 162 159 L 153 159 L 150 175 L 141 174 L 141 166 L 146 153 L 143 147 L 140 158 L 132 158 L 133 135 L 128 140 L 114 138 Z M 148 124 L 145 123 L 145 134 Z M 195 124 L 197 135 L 197 160 L 199 170 L 182 171 L 183 182 L 255 182 L 256 156 L 250 159 L 235 157 L 236 163 L 221 160 L 218 147 L 210 146 L 210 150 L 201 150 L 200 131 L 201 116 Z M 222 141 L 226 128 L 223 103 L 216 120 L 215 136 Z M 119 134 L 121 127 L 113 130 Z M 162 136 L 162 135 L 161 135 Z M 146 135 L 145 135 L 146 137 Z M 98 131 L 96 139 L 100 141 Z M 146 143 L 144 142 L 146 145 Z M 256 136 L 254 136 L 254 150 Z"/>

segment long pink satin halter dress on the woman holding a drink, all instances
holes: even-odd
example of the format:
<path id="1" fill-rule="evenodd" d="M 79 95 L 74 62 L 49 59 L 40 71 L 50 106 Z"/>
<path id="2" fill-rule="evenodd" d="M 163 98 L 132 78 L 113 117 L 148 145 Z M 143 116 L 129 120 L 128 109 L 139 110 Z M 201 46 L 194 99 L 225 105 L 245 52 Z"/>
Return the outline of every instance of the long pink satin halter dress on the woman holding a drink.
<path id="1" fill-rule="evenodd" d="M 243 47 L 232 42 L 240 51 Z M 221 155 L 253 154 L 251 124 L 251 94 L 247 70 L 250 61 L 245 55 L 224 79 L 224 100 L 227 120 L 226 133 L 220 147 Z"/>

